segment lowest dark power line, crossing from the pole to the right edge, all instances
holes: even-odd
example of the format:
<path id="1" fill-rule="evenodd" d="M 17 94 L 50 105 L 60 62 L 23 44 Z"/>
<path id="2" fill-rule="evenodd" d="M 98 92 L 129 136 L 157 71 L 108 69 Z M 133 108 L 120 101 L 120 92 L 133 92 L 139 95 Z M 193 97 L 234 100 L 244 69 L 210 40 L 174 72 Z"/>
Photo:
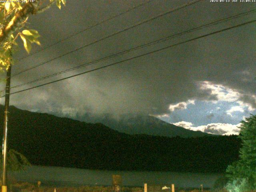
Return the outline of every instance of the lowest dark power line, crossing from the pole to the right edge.
<path id="1" fill-rule="evenodd" d="M 16 91 L 16 92 L 10 93 L 10 95 L 16 94 L 16 93 L 20 93 L 20 92 L 24 92 L 24 91 L 26 91 L 26 90 L 38 88 L 38 87 L 41 87 L 41 86 L 44 86 L 44 85 L 52 84 L 52 83 L 55 83 L 55 82 L 59 82 L 59 81 L 62 81 L 62 80 L 68 79 L 68 78 L 72 78 L 72 77 L 75 77 L 75 76 L 79 76 L 79 75 L 82 75 L 82 74 L 86 74 L 86 73 L 89 73 L 89 72 L 93 72 L 93 71 L 96 71 L 96 70 L 100 70 L 100 69 L 103 69 L 103 68 L 107 68 L 107 67 L 109 67 L 109 66 L 113 66 L 113 65 L 116 65 L 116 64 L 119 64 L 119 63 L 122 63 L 122 62 L 126 62 L 126 61 L 129 61 L 129 60 L 133 60 L 133 59 L 135 59 L 135 58 L 139 58 L 139 57 L 142 57 L 142 56 L 146 56 L 146 55 L 148 55 L 148 54 L 156 53 L 156 52 L 159 52 L 159 51 L 162 51 L 162 50 L 165 50 L 165 49 L 168 49 L 168 48 L 171 48 L 171 47 L 180 45 L 180 44 L 184 44 L 184 43 L 187 43 L 187 42 L 190 42 L 190 41 L 194 41 L 194 40 L 197 40 L 197 39 L 200 39 L 200 38 L 204 38 L 204 37 L 206 37 L 206 36 L 210 36 L 210 35 L 213 35 L 213 34 L 217 34 L 217 33 L 220 33 L 220 32 L 226 31 L 226 30 L 230 30 L 230 29 L 233 29 L 233 28 L 237 28 L 237 27 L 240 27 L 240 26 L 244 26 L 244 25 L 246 25 L 246 24 L 250 24 L 250 23 L 253 23 L 253 22 L 256 22 L 256 20 L 251 20 L 251 21 L 248 21 L 248 22 L 244 22 L 244 23 L 242 23 L 242 24 L 238 24 L 238 25 L 236 25 L 236 26 L 232 26 L 232 27 L 229 27 L 229 28 L 225 28 L 225 29 L 222 29 L 222 30 L 218 30 L 218 31 L 209 33 L 209 34 L 205 34 L 205 35 L 202 35 L 202 36 L 198 36 L 198 37 L 196 37 L 196 38 L 192 38 L 192 39 L 189 39 L 189 40 L 186 40 L 186 41 L 177 43 L 177 44 L 172 44 L 172 45 L 170 45 L 170 46 L 166 46 L 166 47 L 160 48 L 160 49 L 158 49 L 158 50 L 154 50 L 154 51 L 151 51 L 151 52 L 148 52 L 148 53 L 145 53 L 145 54 L 141 54 L 141 55 L 138 55 L 138 56 L 135 56 L 135 57 L 131 57 L 131 58 L 128 58 L 128 59 L 125 59 L 125 60 L 122 60 L 122 61 L 118 61 L 118 62 L 115 62 L 115 63 L 112 63 L 112 64 L 108 64 L 108 65 L 101 66 L 101 67 L 98 67 L 98 68 L 95 68 L 95 69 L 92 69 L 92 70 L 88 70 L 88 71 L 86 71 L 86 72 L 82 72 L 82 73 L 79 73 L 79 74 L 75 74 L 75 75 L 72 75 L 72 76 L 68 76 L 68 77 L 65 77 L 65 78 L 61 78 L 61 79 L 58 79 L 58 80 L 55 80 L 55 81 L 52 81 L 52 82 L 44 83 L 44 84 L 41 84 L 41 85 L 38 85 L 38 86 L 34 86 L 34 87 L 31 87 L 31 88 L 27 88 L 27 89 L 24 89 L 24 90 Z M 4 96 L 2 96 L 2 97 L 4 97 Z M 2 97 L 1 97 L 1 98 L 2 98 Z"/>

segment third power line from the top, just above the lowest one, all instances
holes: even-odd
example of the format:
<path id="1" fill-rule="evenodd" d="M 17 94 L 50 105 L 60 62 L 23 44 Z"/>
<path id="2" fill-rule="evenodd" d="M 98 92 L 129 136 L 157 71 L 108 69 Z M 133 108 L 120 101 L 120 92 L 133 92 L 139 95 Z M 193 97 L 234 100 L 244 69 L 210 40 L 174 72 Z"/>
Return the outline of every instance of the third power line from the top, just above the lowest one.
<path id="1" fill-rule="evenodd" d="M 21 86 L 24 86 L 24 85 L 27 85 L 27 84 L 31 84 L 31 83 L 34 83 L 34 82 L 38 82 L 40 80 L 44 80 L 44 79 L 47 79 L 47 78 L 50 78 L 50 77 L 53 77 L 53 76 L 57 76 L 57 75 L 60 75 L 60 74 L 63 74 L 63 73 L 66 73 L 66 72 L 69 72 L 69 71 L 72 71 L 72 70 L 75 70 L 75 69 L 78 69 L 78 68 L 81 68 L 81 67 L 85 67 L 85 66 L 89 66 L 91 64 L 95 64 L 95 63 L 98 63 L 98 62 L 101 62 L 103 60 L 107 60 L 109 58 L 114 58 L 116 56 L 120 56 L 122 54 L 126 54 L 128 52 L 131 52 L 131 51 L 134 51 L 134 50 L 138 50 L 140 48 L 144 48 L 146 46 L 151 46 L 151 45 L 154 45 L 154 44 L 157 44 L 157 43 L 160 43 L 160 42 L 164 42 L 166 40 L 170 40 L 171 38 L 174 38 L 176 36 L 181 36 L 183 34 L 186 34 L 186 33 L 189 33 L 189 32 L 194 32 L 196 30 L 201 30 L 203 28 L 206 28 L 206 27 L 210 27 L 210 26 L 214 26 L 216 24 L 220 24 L 222 22 L 226 22 L 228 20 L 231 20 L 231 19 L 234 19 L 234 18 L 239 18 L 241 16 L 245 16 L 245 15 L 248 15 L 248 14 L 252 14 L 252 13 L 255 13 L 256 12 L 256 9 L 254 10 L 250 10 L 250 11 L 247 11 L 247 12 L 243 12 L 243 13 L 240 13 L 240 14 L 236 14 L 234 16 L 230 16 L 228 18 L 223 18 L 223 19 L 220 19 L 220 20 L 216 20 L 216 21 L 213 21 L 213 22 L 210 22 L 208 24 L 204 24 L 202 26 L 198 26 L 196 28 L 192 28 L 190 30 L 186 30 L 184 32 L 180 32 L 180 33 L 176 33 L 176 34 L 173 34 L 171 36 L 167 36 L 167 37 L 164 37 L 164 38 L 160 38 L 158 40 L 155 40 L 155 41 L 152 41 L 152 42 L 148 42 L 146 44 L 142 44 L 140 46 L 136 46 L 134 48 L 131 48 L 131 49 L 128 49 L 128 50 L 124 50 L 122 52 L 118 52 L 116 54 L 112 54 L 110 56 L 106 56 L 104 58 L 100 58 L 100 59 L 97 59 L 97 60 L 93 60 L 91 62 L 87 62 L 87 63 L 84 63 L 84 64 L 80 64 L 78 66 L 75 66 L 75 67 L 72 67 L 72 68 L 68 68 L 66 70 L 62 70 L 62 71 L 59 71 L 59 72 L 56 72 L 56 73 L 53 73 L 53 74 L 50 74 L 50 75 L 46 75 L 46 76 L 43 76 L 43 77 L 40 77 L 40 78 L 37 78 L 37 79 L 34 79 L 34 80 L 30 80 L 28 82 L 25 82 L 25 83 L 22 83 L 22 84 L 19 84 L 19 85 L 16 85 L 16 86 L 12 86 L 11 88 L 18 88 L 18 87 L 21 87 Z"/>

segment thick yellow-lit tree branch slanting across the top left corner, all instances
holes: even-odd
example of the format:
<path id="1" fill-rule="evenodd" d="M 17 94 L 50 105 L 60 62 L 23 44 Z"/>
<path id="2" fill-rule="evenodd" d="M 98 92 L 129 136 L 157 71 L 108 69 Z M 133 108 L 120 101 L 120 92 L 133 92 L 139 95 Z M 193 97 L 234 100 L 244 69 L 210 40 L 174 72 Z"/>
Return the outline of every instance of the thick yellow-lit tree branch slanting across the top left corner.
<path id="1" fill-rule="evenodd" d="M 33 3 L 26 2 L 24 7 L 13 16 L 12 20 L 3 26 L 3 28 L 0 30 L 0 46 L 15 31 L 15 29 L 21 25 L 29 14 L 36 13 L 37 4 L 38 0 Z"/>

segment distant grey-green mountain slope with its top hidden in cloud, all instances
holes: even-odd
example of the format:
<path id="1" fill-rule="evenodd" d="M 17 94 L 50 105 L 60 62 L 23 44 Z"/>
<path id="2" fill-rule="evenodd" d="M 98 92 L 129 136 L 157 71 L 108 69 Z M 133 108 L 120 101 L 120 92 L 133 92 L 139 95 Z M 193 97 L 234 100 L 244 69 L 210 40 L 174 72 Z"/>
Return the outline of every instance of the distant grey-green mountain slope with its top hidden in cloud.
<path id="1" fill-rule="evenodd" d="M 111 115 L 106 114 L 96 118 L 87 116 L 80 119 L 84 119 L 86 122 L 100 122 L 114 130 L 127 134 L 148 134 L 165 137 L 180 136 L 183 138 L 216 136 L 201 131 L 188 130 L 149 115 L 126 114 L 113 118 Z"/>

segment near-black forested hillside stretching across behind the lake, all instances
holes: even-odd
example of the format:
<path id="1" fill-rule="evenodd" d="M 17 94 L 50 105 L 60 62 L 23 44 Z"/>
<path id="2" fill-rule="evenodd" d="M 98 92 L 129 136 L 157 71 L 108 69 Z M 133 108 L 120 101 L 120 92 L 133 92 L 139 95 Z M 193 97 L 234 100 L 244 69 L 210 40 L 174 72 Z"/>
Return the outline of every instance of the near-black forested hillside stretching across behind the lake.
<path id="1" fill-rule="evenodd" d="M 3 106 L 0 113 L 3 116 Z M 240 148 L 237 136 L 129 135 L 100 123 L 29 112 L 14 106 L 10 107 L 8 143 L 9 148 L 18 150 L 35 165 L 180 172 L 223 172 L 238 158 Z"/>

